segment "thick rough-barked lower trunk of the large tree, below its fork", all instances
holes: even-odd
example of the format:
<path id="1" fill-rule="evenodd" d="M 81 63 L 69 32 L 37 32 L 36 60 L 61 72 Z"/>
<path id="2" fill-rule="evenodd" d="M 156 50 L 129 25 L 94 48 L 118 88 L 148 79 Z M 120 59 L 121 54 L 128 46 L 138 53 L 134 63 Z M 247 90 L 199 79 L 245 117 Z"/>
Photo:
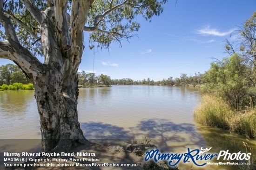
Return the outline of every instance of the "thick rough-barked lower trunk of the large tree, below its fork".
<path id="1" fill-rule="evenodd" d="M 47 70 L 42 75 L 34 83 L 40 114 L 41 151 L 53 150 L 64 143 L 68 150 L 85 139 L 77 117 L 76 73 L 69 73 L 68 80 L 56 69 Z M 67 82 L 69 85 L 65 86 Z"/>

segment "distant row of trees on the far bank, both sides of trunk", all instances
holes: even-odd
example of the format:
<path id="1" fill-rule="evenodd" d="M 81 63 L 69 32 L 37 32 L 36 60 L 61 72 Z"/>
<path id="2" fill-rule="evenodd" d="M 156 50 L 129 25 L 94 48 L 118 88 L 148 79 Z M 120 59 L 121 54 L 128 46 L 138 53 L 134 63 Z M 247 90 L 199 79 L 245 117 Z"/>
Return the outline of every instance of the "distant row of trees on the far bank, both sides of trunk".
<path id="1" fill-rule="evenodd" d="M 163 79 L 162 81 L 154 81 L 150 78 L 143 80 L 132 80 L 131 78 L 123 79 L 111 79 L 107 75 L 98 75 L 95 73 L 86 73 L 85 71 L 78 72 L 79 85 L 81 87 L 91 87 L 94 85 L 162 85 L 162 86 L 196 86 L 202 85 L 204 80 L 200 72 L 195 73 L 194 75 L 188 76 L 187 74 L 182 73 L 180 77 L 173 78 L 169 77 L 168 79 Z M 31 83 L 21 69 L 14 64 L 6 64 L 0 66 L 0 86 L 5 84 L 5 87 L 13 85 L 14 83 L 28 84 Z M 6 86 L 7 85 L 7 86 Z M 15 84 L 18 89 L 20 88 Z M 13 88 L 14 89 L 14 88 Z"/>

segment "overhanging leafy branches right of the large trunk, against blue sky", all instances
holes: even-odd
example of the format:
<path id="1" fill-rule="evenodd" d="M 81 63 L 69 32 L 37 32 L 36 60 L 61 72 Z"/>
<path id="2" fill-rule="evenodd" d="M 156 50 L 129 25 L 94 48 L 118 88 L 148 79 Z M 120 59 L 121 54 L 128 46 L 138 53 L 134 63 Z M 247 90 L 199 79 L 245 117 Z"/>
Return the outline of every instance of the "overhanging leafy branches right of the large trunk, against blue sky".
<path id="1" fill-rule="evenodd" d="M 96 0 L 92 4 L 88 15 L 88 26 L 95 26 L 94 18 L 102 15 L 111 8 L 123 4 L 123 0 Z M 121 42 L 122 39 L 133 37 L 131 34 L 138 31 L 140 24 L 136 20 L 137 15 L 142 15 L 151 21 L 154 15 L 158 16 L 163 11 L 163 4 L 167 0 L 128 0 L 125 5 L 113 10 L 97 24 L 102 31 L 94 31 L 90 34 L 90 48 L 95 45 L 99 48 L 108 48 L 111 42 Z M 106 33 L 106 32 L 108 33 Z"/>

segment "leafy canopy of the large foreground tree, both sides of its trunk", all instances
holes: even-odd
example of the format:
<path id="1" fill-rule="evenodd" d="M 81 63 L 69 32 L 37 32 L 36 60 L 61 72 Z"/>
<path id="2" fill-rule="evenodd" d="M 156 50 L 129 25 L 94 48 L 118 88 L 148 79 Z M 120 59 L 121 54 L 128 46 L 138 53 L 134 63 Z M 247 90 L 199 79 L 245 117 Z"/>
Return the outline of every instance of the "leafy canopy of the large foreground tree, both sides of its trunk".
<path id="1" fill-rule="evenodd" d="M 50 2 L 50 1 L 48 1 Z M 125 2 L 125 3 L 124 3 Z M 86 25 L 94 27 L 97 25 L 97 30 L 90 34 L 90 49 L 96 46 L 100 48 L 108 48 L 111 42 L 121 42 L 122 39 L 129 39 L 134 35 L 132 32 L 138 31 L 140 24 L 136 20 L 137 15 L 142 15 L 146 20 L 151 21 L 154 15 L 158 16 L 163 12 L 163 4 L 167 0 L 94 0 L 91 5 Z M 33 0 L 35 6 L 39 10 L 44 11 L 49 4 L 47 0 Z M 117 5 L 118 8 L 115 8 Z M 68 0 L 68 10 L 70 11 L 71 0 Z M 115 9 L 112 9 L 115 8 Z M 111 12 L 100 19 L 97 23 L 95 18 L 101 16 L 111 9 Z M 40 31 L 36 20 L 32 17 L 26 6 L 20 0 L 7 0 L 4 3 L 4 11 L 13 21 L 13 26 L 17 31 L 20 43 L 25 48 L 31 50 L 35 56 L 42 56 L 42 46 L 40 42 Z M 23 23 L 30 31 L 27 31 L 17 22 Z M 54 18 L 51 18 L 54 25 Z M 2 25 L 0 24 L 0 27 Z M 72 25 L 69 25 L 69 27 Z M 35 36 L 31 35 L 31 32 Z M 0 29 L 0 39 L 6 39 L 4 31 Z"/>

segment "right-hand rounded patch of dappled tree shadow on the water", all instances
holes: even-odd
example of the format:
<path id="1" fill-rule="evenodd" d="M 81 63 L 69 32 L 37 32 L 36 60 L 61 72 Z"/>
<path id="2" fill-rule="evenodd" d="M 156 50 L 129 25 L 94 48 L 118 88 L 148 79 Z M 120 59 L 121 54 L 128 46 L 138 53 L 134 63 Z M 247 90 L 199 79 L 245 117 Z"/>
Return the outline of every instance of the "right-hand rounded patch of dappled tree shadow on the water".
<path id="1" fill-rule="evenodd" d="M 175 124 L 166 119 L 143 120 L 132 128 L 132 131 L 155 139 L 156 145 L 163 151 L 173 151 L 174 147 L 188 148 L 199 144 L 202 146 L 204 141 L 196 131 L 195 125 Z"/>

